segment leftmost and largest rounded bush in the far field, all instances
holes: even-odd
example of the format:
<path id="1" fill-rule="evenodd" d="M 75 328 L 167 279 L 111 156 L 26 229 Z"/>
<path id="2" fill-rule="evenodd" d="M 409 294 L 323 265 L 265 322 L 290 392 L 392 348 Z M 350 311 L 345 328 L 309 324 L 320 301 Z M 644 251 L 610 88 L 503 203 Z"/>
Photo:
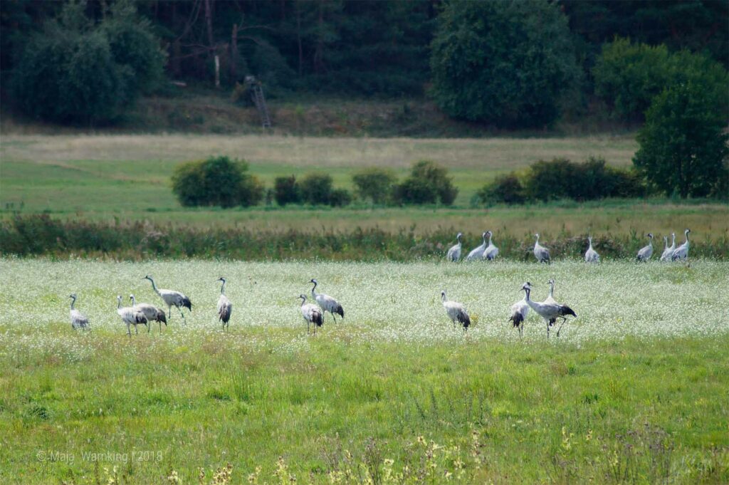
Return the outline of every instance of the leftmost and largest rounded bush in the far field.
<path id="1" fill-rule="evenodd" d="M 254 206 L 263 185 L 247 171 L 248 163 L 225 156 L 183 163 L 175 168 L 172 192 L 183 206 Z"/>

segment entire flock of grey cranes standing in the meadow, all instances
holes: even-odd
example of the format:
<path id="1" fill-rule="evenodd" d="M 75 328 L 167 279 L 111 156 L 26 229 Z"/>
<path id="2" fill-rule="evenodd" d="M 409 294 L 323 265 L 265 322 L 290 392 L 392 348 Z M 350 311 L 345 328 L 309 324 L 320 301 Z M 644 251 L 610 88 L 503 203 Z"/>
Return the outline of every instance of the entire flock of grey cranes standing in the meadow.
<path id="1" fill-rule="evenodd" d="M 673 241 L 670 247 L 668 246 L 668 237 L 664 236 L 663 241 L 665 244 L 665 249 L 663 249 L 663 254 L 660 257 L 660 260 L 687 261 L 690 247 L 690 232 L 691 231 L 689 229 L 686 229 L 684 231 L 685 241 L 679 247 L 676 247 L 675 234 L 671 234 Z M 449 262 L 456 262 L 460 260 L 462 236 L 462 233 L 458 233 L 456 235 L 456 241 L 458 241 L 457 244 L 448 249 L 446 259 Z M 499 248 L 494 245 L 493 236 L 494 234 L 491 232 L 491 230 L 487 230 L 486 232 L 484 232 L 482 235 L 483 244 L 469 252 L 469 255 L 465 258 L 465 260 L 480 259 L 493 261 L 499 254 Z M 486 242 L 487 237 L 488 244 Z M 534 238 L 534 257 L 536 257 L 537 262 L 550 264 L 551 258 L 549 249 L 539 244 L 539 233 L 534 234 Z M 648 233 L 647 238 L 649 239 L 647 246 L 640 249 L 638 255 L 636 256 L 636 260 L 638 260 L 639 262 L 647 262 L 652 256 L 653 234 Z M 595 251 L 595 249 L 593 249 L 592 236 L 588 236 L 588 249 L 585 252 L 585 262 L 600 262 L 600 255 Z M 154 290 L 154 292 L 157 293 L 157 295 L 159 295 L 159 297 L 163 300 L 165 305 L 167 305 L 168 314 L 165 316 L 165 312 L 162 309 L 159 309 L 152 304 L 137 303 L 134 295 L 129 295 L 132 306 L 122 307 L 122 295 L 118 295 L 117 314 L 127 327 L 127 335 L 131 337 L 132 326 L 134 326 L 134 333 L 136 335 L 139 335 L 139 331 L 137 330 L 138 325 L 146 325 L 147 333 L 149 333 L 149 324 L 151 322 L 158 322 L 161 333 L 162 324 L 164 323 L 166 327 L 168 318 L 172 317 L 173 306 L 180 312 L 182 322 L 184 323 L 185 316 L 182 309 L 185 308 L 188 311 L 192 311 L 192 302 L 190 298 L 188 298 L 186 295 L 184 295 L 184 293 L 179 291 L 162 290 L 157 288 L 157 284 L 155 284 L 155 280 L 152 278 L 152 276 L 147 275 L 144 276 L 143 279 L 148 279 L 149 282 L 152 283 L 152 290 Z M 230 317 L 233 313 L 233 303 L 231 303 L 225 295 L 225 284 L 227 283 L 227 279 L 221 276 L 215 281 L 222 283 L 220 286 L 220 296 L 217 302 L 217 317 L 218 321 L 222 322 L 222 329 L 227 330 L 230 328 Z M 332 314 L 332 319 L 336 323 L 337 317 L 335 317 L 335 315 L 338 314 L 343 319 L 344 309 L 341 303 L 339 303 L 338 300 L 335 300 L 335 298 L 332 298 L 330 295 L 325 295 L 324 293 L 316 292 L 316 287 L 319 285 L 319 282 L 317 282 L 316 279 L 312 278 L 311 280 L 309 280 L 309 283 L 313 284 L 313 287 L 311 288 L 311 300 L 316 303 L 307 303 L 307 297 L 304 294 L 299 295 L 298 298 L 300 298 L 301 300 L 300 310 L 302 317 L 306 322 L 307 333 L 311 333 L 311 325 L 313 325 L 313 333 L 314 335 L 316 335 L 316 330 L 324 325 L 324 314 L 326 314 L 327 312 Z M 542 319 L 545 320 L 547 328 L 547 338 L 549 338 L 550 330 L 556 324 L 558 319 L 561 319 L 562 322 L 557 329 L 557 336 L 560 335 L 562 326 L 566 322 L 566 317 L 572 316 L 577 318 L 577 314 L 575 314 L 574 310 L 572 310 L 566 304 L 558 303 L 555 300 L 555 280 L 549 279 L 547 281 L 547 284 L 549 285 L 549 294 L 547 295 L 547 298 L 545 298 L 545 300 L 542 302 L 537 302 L 531 299 L 531 291 L 533 285 L 530 282 L 525 282 L 521 286 L 521 290 L 523 290 L 524 292 L 524 297 L 522 298 L 522 300 L 519 300 L 511 306 L 511 314 L 508 320 L 512 323 L 512 326 L 514 328 L 518 329 L 520 337 L 523 336 L 524 322 L 526 321 L 526 317 L 529 315 L 530 309 L 533 310 L 534 313 L 539 315 L 539 317 L 542 317 Z M 441 303 L 443 304 L 443 309 L 445 309 L 445 313 L 447 314 L 448 318 L 451 319 L 453 327 L 455 328 L 456 325 L 460 325 L 463 328 L 464 333 L 466 333 L 468 328 L 471 326 L 471 317 L 468 314 L 466 306 L 464 306 L 463 303 L 448 300 L 448 296 L 446 295 L 445 290 L 442 290 L 440 292 L 440 297 Z M 71 298 L 71 310 L 69 313 L 69 316 L 71 318 L 71 328 L 74 330 L 89 330 L 89 319 L 85 317 L 85 315 L 82 314 L 78 309 L 74 308 L 77 300 L 76 293 L 71 293 L 71 295 L 69 295 L 69 298 Z"/>

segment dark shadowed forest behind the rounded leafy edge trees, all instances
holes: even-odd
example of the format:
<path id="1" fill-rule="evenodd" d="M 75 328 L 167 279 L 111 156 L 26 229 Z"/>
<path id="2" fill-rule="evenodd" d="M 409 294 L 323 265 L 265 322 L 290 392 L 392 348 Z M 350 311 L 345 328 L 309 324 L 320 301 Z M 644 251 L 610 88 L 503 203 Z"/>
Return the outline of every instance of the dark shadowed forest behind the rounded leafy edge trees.
<path id="1" fill-rule="evenodd" d="M 79 2 L 87 18 L 96 21 L 114 3 Z M 464 8 L 459 4 L 494 10 L 499 3 L 512 2 L 142 0 L 134 6 L 149 20 L 168 55 L 165 70 L 171 78 L 214 82 L 217 55 L 222 85 L 233 86 L 246 74 L 255 74 L 271 87 L 392 96 L 426 89 L 430 46 L 442 12 L 453 15 L 453 8 Z M 569 25 L 569 49 L 584 68 L 588 85 L 601 45 L 615 36 L 704 52 L 724 66 L 729 63 L 726 1 L 561 0 L 550 5 Z M 28 39 L 42 32 L 47 20 L 58 19 L 63 7 L 52 0 L 0 2 L 1 71 L 17 66 Z M 538 9 L 550 22 L 561 22 L 546 5 L 513 8 Z M 554 26 L 539 28 L 562 42 Z M 514 33 L 507 28 L 502 42 Z"/>

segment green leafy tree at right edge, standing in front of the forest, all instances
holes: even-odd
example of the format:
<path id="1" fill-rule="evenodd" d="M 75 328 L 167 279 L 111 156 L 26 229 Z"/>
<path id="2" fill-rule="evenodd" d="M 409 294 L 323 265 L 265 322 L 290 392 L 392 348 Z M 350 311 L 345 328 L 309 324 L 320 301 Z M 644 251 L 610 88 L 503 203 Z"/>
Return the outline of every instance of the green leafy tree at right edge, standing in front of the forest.
<path id="1" fill-rule="evenodd" d="M 726 197 L 725 103 L 725 94 L 693 80 L 663 90 L 638 133 L 636 168 L 668 195 Z"/>

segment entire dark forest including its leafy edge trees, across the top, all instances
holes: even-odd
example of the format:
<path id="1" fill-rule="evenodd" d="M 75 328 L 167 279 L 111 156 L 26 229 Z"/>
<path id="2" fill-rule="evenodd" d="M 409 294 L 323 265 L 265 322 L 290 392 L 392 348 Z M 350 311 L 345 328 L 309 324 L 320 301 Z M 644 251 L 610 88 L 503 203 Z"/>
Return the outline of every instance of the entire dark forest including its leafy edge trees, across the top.
<path id="1" fill-rule="evenodd" d="M 596 100 L 642 121 L 676 79 L 671 66 L 695 58 L 724 82 L 729 63 L 724 0 L 4 0 L 0 9 L 6 106 L 63 122 L 114 120 L 173 81 L 230 92 L 249 75 L 274 97 L 429 96 L 451 117 L 502 128 L 549 125 Z M 637 57 L 616 61 L 615 42 Z M 641 57 L 649 47 L 664 58 Z M 616 80 L 626 62 L 646 72 Z M 638 95 L 636 82 L 648 84 Z"/>

